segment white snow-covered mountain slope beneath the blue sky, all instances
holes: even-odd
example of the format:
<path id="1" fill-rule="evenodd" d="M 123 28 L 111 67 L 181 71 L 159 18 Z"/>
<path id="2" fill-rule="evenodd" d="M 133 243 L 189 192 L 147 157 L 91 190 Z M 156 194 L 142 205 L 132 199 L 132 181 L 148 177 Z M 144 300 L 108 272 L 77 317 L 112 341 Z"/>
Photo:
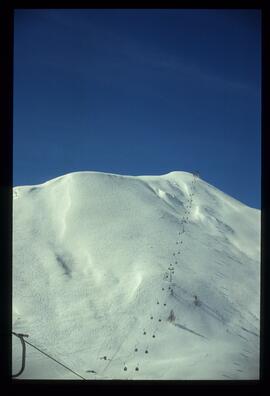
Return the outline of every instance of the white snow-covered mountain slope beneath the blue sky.
<path id="1" fill-rule="evenodd" d="M 78 172 L 15 187 L 13 227 L 13 331 L 83 378 L 259 378 L 259 210 L 192 173 Z M 18 378 L 79 379 L 30 345 Z"/>

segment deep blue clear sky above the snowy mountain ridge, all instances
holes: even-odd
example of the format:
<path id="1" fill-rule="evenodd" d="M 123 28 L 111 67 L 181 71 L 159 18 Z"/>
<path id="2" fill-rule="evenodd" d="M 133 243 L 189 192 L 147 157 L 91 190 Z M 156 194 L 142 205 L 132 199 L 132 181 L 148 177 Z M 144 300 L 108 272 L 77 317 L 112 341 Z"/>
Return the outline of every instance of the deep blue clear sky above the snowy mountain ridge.
<path id="1" fill-rule="evenodd" d="M 257 10 L 16 10 L 14 185 L 201 177 L 260 207 Z"/>

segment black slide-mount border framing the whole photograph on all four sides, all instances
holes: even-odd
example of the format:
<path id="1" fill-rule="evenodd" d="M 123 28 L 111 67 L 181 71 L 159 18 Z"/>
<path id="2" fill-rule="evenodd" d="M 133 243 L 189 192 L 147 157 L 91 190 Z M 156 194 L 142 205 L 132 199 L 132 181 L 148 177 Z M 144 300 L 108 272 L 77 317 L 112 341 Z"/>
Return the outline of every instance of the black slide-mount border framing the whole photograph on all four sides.
<path id="1" fill-rule="evenodd" d="M 269 2 L 268 2 L 269 4 Z M 166 3 L 164 6 L 143 2 L 121 4 L 116 2 L 94 3 L 88 0 L 4 0 L 0 5 L 0 95 L 3 97 L 0 117 L 0 387 L 20 392 L 46 392 L 64 390 L 74 393 L 77 390 L 91 391 L 102 389 L 117 390 L 178 390 L 183 392 L 228 393 L 231 391 L 261 392 L 269 382 L 269 249 L 267 249 L 269 224 L 269 189 L 267 189 L 267 154 L 269 153 L 269 38 L 270 18 L 267 0 L 184 0 L 177 4 Z M 262 11 L 262 134 L 261 134 L 261 338 L 260 338 L 260 379 L 259 380 L 16 380 L 11 378 L 11 306 L 12 306 L 12 186 L 13 186 L 13 17 L 15 9 L 77 9 L 77 8 L 166 8 L 166 9 L 259 9 Z M 267 73 L 268 72 L 268 73 Z M 268 110 L 268 111 L 267 111 Z M 248 175 L 246 175 L 248 177 Z M 267 309 L 268 307 L 268 309 Z M 117 388 L 116 388 L 117 387 Z"/>

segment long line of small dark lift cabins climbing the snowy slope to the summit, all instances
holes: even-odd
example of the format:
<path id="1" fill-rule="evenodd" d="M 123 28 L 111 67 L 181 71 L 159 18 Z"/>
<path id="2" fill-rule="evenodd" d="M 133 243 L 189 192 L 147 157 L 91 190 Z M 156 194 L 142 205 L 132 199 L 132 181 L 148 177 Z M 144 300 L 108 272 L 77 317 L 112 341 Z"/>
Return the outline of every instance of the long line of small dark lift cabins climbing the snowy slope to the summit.
<path id="1" fill-rule="evenodd" d="M 150 354 L 150 350 L 149 350 L 149 343 L 147 343 L 147 339 L 150 335 L 150 337 L 152 339 L 157 339 L 157 332 L 161 326 L 161 323 L 164 320 L 167 320 L 170 314 L 170 311 L 172 312 L 172 310 L 170 310 L 169 308 L 169 303 L 171 301 L 171 296 L 174 295 L 174 285 L 173 285 L 173 278 L 174 275 L 176 273 L 176 267 L 179 266 L 179 258 L 182 252 L 182 248 L 183 248 L 183 240 L 182 240 L 182 235 L 185 233 L 185 225 L 188 224 L 189 222 L 189 216 L 191 214 L 191 208 L 192 208 L 192 203 L 193 203 L 193 197 L 194 197 L 194 189 L 195 189 L 195 184 L 196 181 L 198 179 L 198 175 L 194 174 L 193 175 L 193 180 L 191 182 L 191 188 L 190 188 L 190 192 L 189 192 L 189 198 L 187 201 L 187 206 L 185 208 L 184 211 L 184 216 L 180 221 L 180 227 L 181 230 L 178 232 L 177 235 L 177 240 L 176 240 L 176 249 L 175 251 L 172 253 L 172 261 L 169 267 L 167 268 L 167 270 L 165 271 L 165 273 L 163 274 L 163 279 L 162 279 L 162 285 L 161 285 L 161 290 L 164 292 L 165 294 L 165 298 L 163 301 L 159 301 L 156 300 L 156 305 L 158 305 L 160 307 L 160 313 L 157 314 L 156 316 L 154 315 L 150 315 L 149 316 L 149 322 L 148 322 L 148 326 L 152 323 L 156 323 L 156 327 L 154 329 L 154 331 L 147 331 L 146 327 L 143 328 L 141 330 L 141 336 L 143 336 L 144 340 L 143 342 L 137 342 L 134 345 L 133 351 L 131 351 L 131 353 L 128 355 L 128 357 L 130 356 L 135 356 L 135 354 L 139 354 L 139 352 L 143 352 L 144 355 L 151 355 Z M 165 282 L 165 284 L 164 284 Z M 164 311 L 166 312 L 166 315 L 164 314 Z M 164 319 L 165 318 L 165 319 Z M 109 359 L 107 356 L 102 356 L 99 357 L 99 359 L 103 359 L 105 361 L 110 361 L 111 359 Z M 120 358 L 115 358 L 116 359 L 120 359 Z M 139 360 L 139 359 L 138 359 Z M 130 367 L 128 366 L 128 364 L 126 363 L 126 361 L 120 359 L 120 361 L 122 361 L 122 369 L 125 372 L 130 372 L 130 371 L 139 371 L 140 367 L 139 367 L 139 362 L 135 365 L 135 367 Z M 104 373 L 105 370 L 103 370 Z"/>

